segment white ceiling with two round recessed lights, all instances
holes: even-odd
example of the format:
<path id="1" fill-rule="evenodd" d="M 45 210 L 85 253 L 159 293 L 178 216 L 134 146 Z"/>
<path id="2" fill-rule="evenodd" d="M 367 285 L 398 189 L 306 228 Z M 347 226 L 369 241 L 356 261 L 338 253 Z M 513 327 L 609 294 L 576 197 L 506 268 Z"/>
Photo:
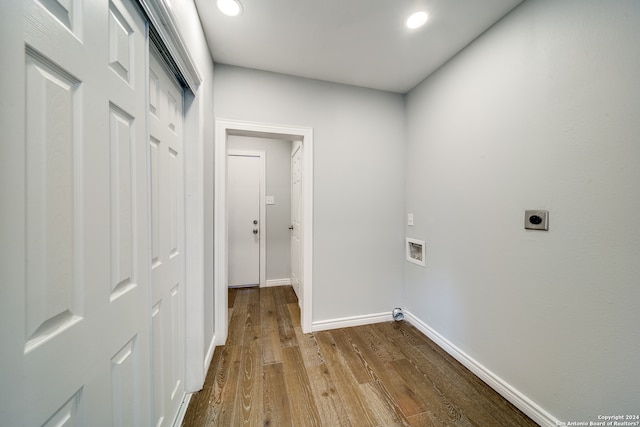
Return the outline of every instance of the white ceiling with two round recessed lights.
<path id="1" fill-rule="evenodd" d="M 216 63 L 406 93 L 522 0 L 195 0 Z M 404 21 L 425 10 L 427 24 Z"/>

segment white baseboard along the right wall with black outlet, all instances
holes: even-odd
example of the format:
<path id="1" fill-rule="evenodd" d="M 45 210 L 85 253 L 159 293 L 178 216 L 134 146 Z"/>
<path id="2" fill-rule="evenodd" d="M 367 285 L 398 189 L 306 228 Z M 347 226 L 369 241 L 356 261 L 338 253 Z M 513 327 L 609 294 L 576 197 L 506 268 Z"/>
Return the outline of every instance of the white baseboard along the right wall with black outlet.
<path id="1" fill-rule="evenodd" d="M 513 386 L 508 384 L 502 378 L 491 372 L 477 360 L 460 350 L 453 343 L 433 330 L 429 325 L 418 319 L 416 316 L 408 311 L 404 312 L 405 319 L 415 326 L 420 332 L 429 337 L 444 351 L 449 353 L 458 362 L 462 363 L 471 372 L 473 372 L 478 378 L 487 383 L 489 387 L 497 391 L 502 397 L 513 403 L 515 407 L 527 414 L 532 420 L 540 424 L 541 426 L 555 427 L 559 425 L 558 420 L 554 418 L 547 411 L 538 406 L 535 402 L 529 399 L 527 396 L 516 390 Z"/>

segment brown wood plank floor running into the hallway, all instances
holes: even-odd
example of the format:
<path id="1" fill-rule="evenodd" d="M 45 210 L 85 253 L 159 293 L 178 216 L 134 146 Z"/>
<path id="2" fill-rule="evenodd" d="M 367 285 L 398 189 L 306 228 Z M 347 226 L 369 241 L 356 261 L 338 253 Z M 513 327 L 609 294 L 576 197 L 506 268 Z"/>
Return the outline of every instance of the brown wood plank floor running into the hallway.
<path id="1" fill-rule="evenodd" d="M 290 286 L 230 290 L 229 307 L 183 426 L 536 425 L 408 323 L 303 334 Z"/>

